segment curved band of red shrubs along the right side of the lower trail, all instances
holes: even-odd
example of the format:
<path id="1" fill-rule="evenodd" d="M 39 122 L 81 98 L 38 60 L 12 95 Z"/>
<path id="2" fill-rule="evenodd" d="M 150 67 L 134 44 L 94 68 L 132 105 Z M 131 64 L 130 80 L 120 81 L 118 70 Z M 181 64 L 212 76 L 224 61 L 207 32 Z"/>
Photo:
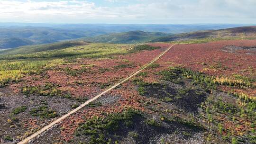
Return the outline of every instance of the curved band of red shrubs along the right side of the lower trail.
<path id="1" fill-rule="evenodd" d="M 97 108 L 85 108 L 71 117 L 64 119 L 63 123 L 61 124 L 63 127 L 61 131 L 61 138 L 65 141 L 70 141 L 73 139 L 73 134 L 79 124 L 82 124 L 84 121 L 89 120 L 92 117 L 105 117 L 109 114 L 121 113 L 127 108 L 134 108 L 150 113 L 149 110 L 145 109 L 145 107 L 143 107 L 139 102 L 141 100 L 146 100 L 146 98 L 140 96 L 137 90 L 130 89 L 131 87 L 133 86 L 130 83 L 125 83 L 121 88 L 112 90 L 102 96 L 103 98 L 106 97 L 107 99 L 110 99 L 110 97 L 119 97 L 113 103 Z"/>

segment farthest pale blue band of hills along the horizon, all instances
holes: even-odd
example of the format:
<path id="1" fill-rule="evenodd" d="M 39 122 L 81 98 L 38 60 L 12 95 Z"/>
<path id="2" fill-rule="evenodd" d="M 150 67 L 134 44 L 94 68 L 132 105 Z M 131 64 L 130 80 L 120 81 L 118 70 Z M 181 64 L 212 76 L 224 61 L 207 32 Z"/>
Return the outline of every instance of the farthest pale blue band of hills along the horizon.
<path id="1" fill-rule="evenodd" d="M 10 27 L 11 26 L 11 27 Z M 187 33 L 199 30 L 224 29 L 231 27 L 251 26 L 249 24 L 44 24 L 44 23 L 0 23 L 0 27 L 48 27 L 75 31 L 101 31 L 120 33 L 142 30 L 146 32 Z"/>

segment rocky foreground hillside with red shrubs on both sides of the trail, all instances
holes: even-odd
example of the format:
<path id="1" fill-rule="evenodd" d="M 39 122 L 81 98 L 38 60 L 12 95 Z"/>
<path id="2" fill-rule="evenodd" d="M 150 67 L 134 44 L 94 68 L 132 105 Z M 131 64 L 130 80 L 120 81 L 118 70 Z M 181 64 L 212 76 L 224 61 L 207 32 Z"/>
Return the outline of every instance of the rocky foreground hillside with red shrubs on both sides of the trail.
<path id="1" fill-rule="evenodd" d="M 69 69 L 63 65 L 1 88 L 2 143 L 15 143 L 26 126 L 48 123 L 107 90 L 170 44 L 150 45 L 162 48 L 114 59 L 80 59 Z M 255 144 L 255 45 L 255 40 L 176 45 L 29 144 Z M 41 105 L 51 110 L 44 108 L 44 115 L 33 110 Z M 18 107 L 21 112 L 11 114 Z"/>

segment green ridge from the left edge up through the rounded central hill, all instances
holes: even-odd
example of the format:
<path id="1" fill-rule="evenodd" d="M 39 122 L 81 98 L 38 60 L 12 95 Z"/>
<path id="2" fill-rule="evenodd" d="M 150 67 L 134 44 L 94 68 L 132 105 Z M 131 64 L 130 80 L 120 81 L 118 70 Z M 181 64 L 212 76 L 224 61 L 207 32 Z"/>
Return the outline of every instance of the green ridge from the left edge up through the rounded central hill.
<path id="1" fill-rule="evenodd" d="M 56 42 L 52 44 L 45 45 L 27 45 L 20 46 L 14 49 L 7 49 L 0 51 L 0 54 L 29 54 L 29 53 L 37 53 L 47 50 L 56 50 L 56 49 L 64 49 L 67 47 L 79 46 L 79 45 L 87 45 L 86 41 L 98 42 L 98 43 L 117 43 L 117 44 L 128 44 L 128 43 L 139 43 L 150 41 L 159 36 L 165 36 L 164 33 L 152 32 L 147 33 L 143 31 L 131 31 L 125 33 L 116 33 L 110 35 L 101 35 L 91 38 L 83 38 L 79 40 L 73 41 L 64 41 L 64 42 Z"/>

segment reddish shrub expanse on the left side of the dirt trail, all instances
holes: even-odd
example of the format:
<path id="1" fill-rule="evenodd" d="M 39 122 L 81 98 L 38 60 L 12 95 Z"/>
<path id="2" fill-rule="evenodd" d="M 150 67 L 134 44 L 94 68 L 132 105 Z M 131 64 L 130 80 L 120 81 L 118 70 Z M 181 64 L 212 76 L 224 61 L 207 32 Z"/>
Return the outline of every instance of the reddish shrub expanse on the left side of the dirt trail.
<path id="1" fill-rule="evenodd" d="M 11 85 L 15 91 L 20 91 L 23 86 L 40 86 L 47 82 L 58 85 L 59 90 L 68 91 L 73 97 L 91 98 L 99 93 L 102 84 L 113 85 L 136 72 L 141 66 L 149 63 L 157 55 L 166 50 L 167 45 L 152 51 L 143 51 L 135 54 L 120 55 L 113 59 L 93 60 L 80 59 L 76 64 L 61 65 L 56 70 L 49 70 L 42 77 L 27 76 L 23 81 Z M 124 67 L 118 68 L 119 65 Z M 71 71 L 88 69 L 77 76 L 67 74 L 61 69 L 68 67 Z M 35 80 L 35 77 L 38 79 Z M 80 83 L 80 84 L 77 84 Z"/>

